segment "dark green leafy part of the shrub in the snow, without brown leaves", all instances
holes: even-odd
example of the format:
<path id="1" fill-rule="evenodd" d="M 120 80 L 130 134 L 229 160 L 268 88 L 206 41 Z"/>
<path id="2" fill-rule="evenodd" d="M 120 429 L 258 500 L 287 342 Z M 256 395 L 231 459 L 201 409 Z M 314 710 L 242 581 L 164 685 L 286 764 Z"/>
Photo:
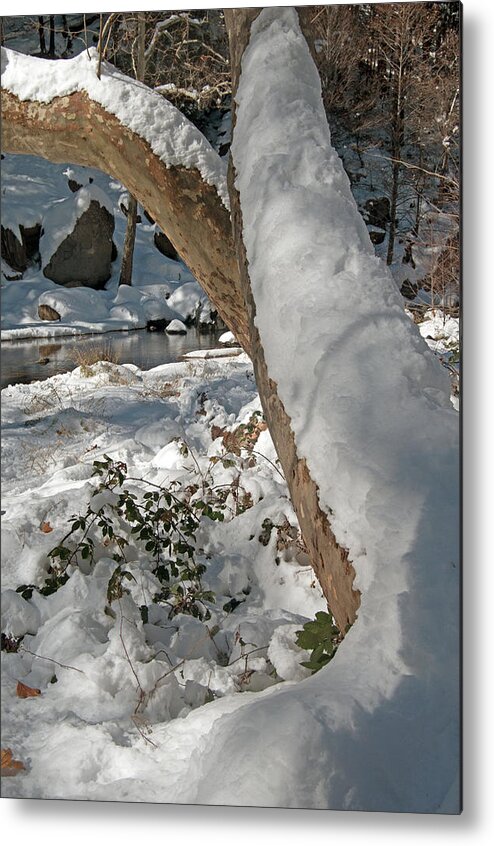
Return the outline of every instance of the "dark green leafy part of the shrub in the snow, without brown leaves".
<path id="1" fill-rule="evenodd" d="M 201 582 L 206 565 L 196 549 L 196 533 L 203 518 L 222 521 L 223 511 L 204 500 L 191 502 L 190 494 L 197 488 L 174 493 L 144 479 L 128 478 L 127 465 L 108 455 L 93 462 L 93 476 L 99 476 L 101 482 L 86 512 L 73 515 L 70 530 L 48 553 L 52 563 L 44 586 L 21 585 L 18 592 L 25 598 L 33 590 L 53 593 L 65 584 L 72 568 L 93 566 L 100 544 L 117 565 L 108 583 L 111 605 L 127 590 L 124 582 L 134 579 L 125 567 L 131 537 L 153 560 L 152 573 L 162 586 L 153 601 L 169 605 L 170 616 L 185 613 L 208 619 L 206 603 L 214 602 L 214 595 Z M 145 483 L 151 490 L 139 497 L 129 490 L 129 482 Z"/>

